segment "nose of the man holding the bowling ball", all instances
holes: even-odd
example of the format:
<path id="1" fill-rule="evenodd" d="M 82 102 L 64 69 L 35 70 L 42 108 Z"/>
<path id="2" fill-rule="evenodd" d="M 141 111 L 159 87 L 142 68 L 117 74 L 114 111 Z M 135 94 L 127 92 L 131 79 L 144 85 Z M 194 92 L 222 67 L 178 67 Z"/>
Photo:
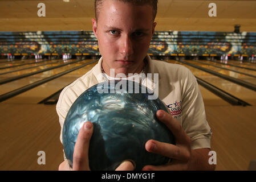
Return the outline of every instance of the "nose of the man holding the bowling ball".
<path id="1" fill-rule="evenodd" d="M 124 56 L 132 55 L 133 53 L 133 42 L 129 35 L 123 35 L 120 39 L 119 51 Z"/>

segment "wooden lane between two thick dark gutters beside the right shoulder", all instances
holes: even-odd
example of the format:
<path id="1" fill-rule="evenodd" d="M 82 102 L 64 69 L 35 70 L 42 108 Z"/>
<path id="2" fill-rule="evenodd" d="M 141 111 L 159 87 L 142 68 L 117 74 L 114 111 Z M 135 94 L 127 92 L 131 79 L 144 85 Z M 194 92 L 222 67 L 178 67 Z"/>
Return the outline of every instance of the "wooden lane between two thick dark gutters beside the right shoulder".
<path id="1" fill-rule="evenodd" d="M 168 60 L 168 63 L 174 63 L 174 64 L 181 64 L 178 61 L 174 60 Z M 198 78 L 201 78 L 202 80 L 205 80 L 209 82 L 210 84 L 217 86 L 218 88 L 224 90 L 225 92 L 245 101 L 248 102 L 251 105 L 256 105 L 256 92 L 250 89 L 247 89 L 241 85 L 235 84 L 231 81 L 224 80 L 220 77 L 214 76 L 210 73 L 206 73 L 201 71 L 200 69 L 196 69 L 193 67 L 190 67 L 189 65 L 181 64 L 190 69 L 190 71 L 194 74 L 194 76 L 197 76 Z"/>

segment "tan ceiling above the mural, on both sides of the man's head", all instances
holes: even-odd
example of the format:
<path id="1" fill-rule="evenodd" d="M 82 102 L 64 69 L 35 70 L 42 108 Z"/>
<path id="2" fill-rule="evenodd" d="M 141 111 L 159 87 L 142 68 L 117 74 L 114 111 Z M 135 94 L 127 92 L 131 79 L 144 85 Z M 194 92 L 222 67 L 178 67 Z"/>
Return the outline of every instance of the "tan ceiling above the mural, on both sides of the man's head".
<path id="1" fill-rule="evenodd" d="M 66 2 L 65 2 L 66 1 Z M 38 3 L 46 16 L 38 17 Z M 210 17 L 209 3 L 216 3 L 217 16 Z M 0 0 L 0 31 L 92 30 L 94 0 Z M 157 31 L 256 32 L 256 1 L 159 0 Z"/>

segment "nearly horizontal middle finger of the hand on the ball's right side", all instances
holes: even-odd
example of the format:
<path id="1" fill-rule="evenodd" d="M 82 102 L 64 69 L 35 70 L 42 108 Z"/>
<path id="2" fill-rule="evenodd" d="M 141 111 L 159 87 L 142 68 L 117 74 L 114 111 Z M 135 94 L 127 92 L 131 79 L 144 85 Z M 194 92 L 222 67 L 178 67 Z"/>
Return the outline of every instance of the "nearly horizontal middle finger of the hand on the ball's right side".
<path id="1" fill-rule="evenodd" d="M 160 154 L 172 159 L 178 159 L 181 161 L 188 161 L 190 159 L 190 153 L 188 150 L 170 143 L 148 140 L 145 144 L 145 149 L 148 152 Z"/>

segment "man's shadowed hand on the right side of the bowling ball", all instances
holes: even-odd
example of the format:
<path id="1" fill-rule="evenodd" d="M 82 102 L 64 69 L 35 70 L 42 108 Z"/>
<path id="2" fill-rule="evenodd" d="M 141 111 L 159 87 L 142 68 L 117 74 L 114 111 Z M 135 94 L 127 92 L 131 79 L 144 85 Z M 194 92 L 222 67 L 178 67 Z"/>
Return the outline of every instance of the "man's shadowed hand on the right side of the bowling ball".
<path id="1" fill-rule="evenodd" d="M 190 137 L 182 129 L 182 126 L 172 115 L 163 110 L 158 110 L 157 118 L 172 131 L 176 138 L 176 145 L 170 143 L 148 140 L 145 148 L 148 152 L 160 154 L 172 158 L 172 162 L 162 166 L 145 166 L 143 170 L 188 170 L 192 162 L 192 149 Z"/>

